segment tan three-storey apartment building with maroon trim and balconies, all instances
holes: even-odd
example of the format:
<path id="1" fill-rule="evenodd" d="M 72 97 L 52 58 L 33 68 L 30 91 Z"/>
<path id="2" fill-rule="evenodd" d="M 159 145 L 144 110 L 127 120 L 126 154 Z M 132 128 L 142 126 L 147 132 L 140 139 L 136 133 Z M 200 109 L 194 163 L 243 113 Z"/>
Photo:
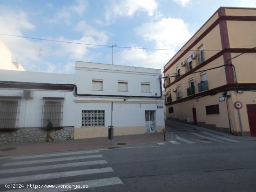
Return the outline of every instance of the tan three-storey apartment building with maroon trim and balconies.
<path id="1" fill-rule="evenodd" d="M 256 9 L 220 7 L 164 66 L 167 119 L 256 136 Z"/>

